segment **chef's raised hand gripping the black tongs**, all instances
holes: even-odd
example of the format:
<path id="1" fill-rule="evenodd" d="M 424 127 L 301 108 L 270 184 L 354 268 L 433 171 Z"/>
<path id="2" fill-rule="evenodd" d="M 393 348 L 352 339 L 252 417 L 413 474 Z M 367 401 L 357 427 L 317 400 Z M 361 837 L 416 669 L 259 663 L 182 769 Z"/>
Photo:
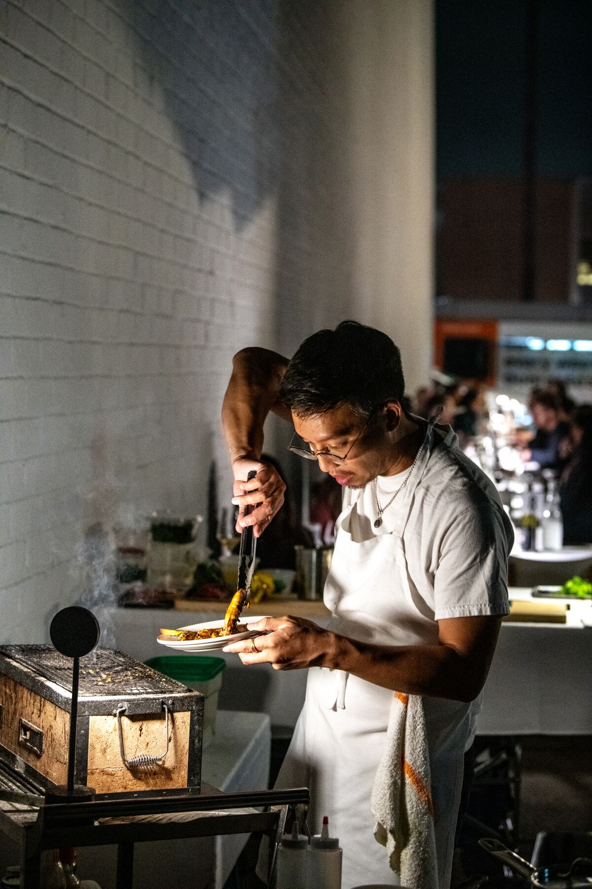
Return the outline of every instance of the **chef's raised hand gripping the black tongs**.
<path id="1" fill-rule="evenodd" d="M 255 478 L 247 481 L 249 472 L 257 472 Z M 260 537 L 284 502 L 286 485 L 278 472 L 269 463 L 252 460 L 250 457 L 237 457 L 233 460 L 233 503 L 241 508 L 236 530 L 241 532 L 247 525 L 255 525 L 253 533 Z M 255 504 L 249 516 L 244 516 L 247 504 Z"/>

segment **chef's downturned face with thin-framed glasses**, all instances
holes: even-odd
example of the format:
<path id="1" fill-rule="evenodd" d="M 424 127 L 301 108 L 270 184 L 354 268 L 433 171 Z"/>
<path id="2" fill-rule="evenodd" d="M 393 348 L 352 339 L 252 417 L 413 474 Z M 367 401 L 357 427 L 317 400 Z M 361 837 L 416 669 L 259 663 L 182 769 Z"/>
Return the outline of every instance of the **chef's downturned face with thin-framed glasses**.
<path id="1" fill-rule="evenodd" d="M 347 454 L 345 461 L 336 461 L 320 453 L 321 471 L 333 476 L 339 485 L 359 488 L 388 472 L 391 448 L 389 429 L 397 425 L 399 414 L 399 404 L 390 405 L 386 410 L 375 412 L 365 426 L 365 420 L 351 407 L 343 405 L 335 408 L 335 411 L 313 417 L 302 418 L 292 414 L 292 419 L 298 435 L 316 453 L 330 452 L 340 457 Z"/>

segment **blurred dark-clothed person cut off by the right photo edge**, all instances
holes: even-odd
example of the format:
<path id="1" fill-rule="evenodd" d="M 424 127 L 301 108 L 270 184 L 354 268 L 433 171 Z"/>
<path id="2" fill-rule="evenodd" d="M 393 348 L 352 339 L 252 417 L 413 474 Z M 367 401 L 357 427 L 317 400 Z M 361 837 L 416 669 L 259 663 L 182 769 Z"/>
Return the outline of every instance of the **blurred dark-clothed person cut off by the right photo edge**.
<path id="1" fill-rule="evenodd" d="M 564 545 L 592 543 L 592 404 L 573 412 L 572 459 L 559 482 Z"/>

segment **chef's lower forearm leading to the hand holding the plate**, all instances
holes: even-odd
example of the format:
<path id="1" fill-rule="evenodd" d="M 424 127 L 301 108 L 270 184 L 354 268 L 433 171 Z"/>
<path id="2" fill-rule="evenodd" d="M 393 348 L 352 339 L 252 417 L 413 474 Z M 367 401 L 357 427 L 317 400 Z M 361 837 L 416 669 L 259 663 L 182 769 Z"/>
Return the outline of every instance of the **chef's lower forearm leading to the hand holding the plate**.
<path id="1" fill-rule="evenodd" d="M 473 701 L 486 677 L 481 664 L 450 645 L 370 645 L 329 634 L 323 666 L 393 692 Z M 487 665 L 488 667 L 488 665 Z"/>

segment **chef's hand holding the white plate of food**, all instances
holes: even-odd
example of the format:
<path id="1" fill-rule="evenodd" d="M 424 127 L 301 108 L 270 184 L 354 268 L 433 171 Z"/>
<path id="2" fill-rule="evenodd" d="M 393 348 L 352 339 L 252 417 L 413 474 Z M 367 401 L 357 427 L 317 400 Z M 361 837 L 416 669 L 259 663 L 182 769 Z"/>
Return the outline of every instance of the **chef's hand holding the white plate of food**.
<path id="1" fill-rule="evenodd" d="M 247 626 L 267 635 L 233 642 L 223 651 L 238 654 L 243 664 L 270 663 L 273 669 L 323 667 L 334 635 L 301 617 L 265 617 Z"/>

